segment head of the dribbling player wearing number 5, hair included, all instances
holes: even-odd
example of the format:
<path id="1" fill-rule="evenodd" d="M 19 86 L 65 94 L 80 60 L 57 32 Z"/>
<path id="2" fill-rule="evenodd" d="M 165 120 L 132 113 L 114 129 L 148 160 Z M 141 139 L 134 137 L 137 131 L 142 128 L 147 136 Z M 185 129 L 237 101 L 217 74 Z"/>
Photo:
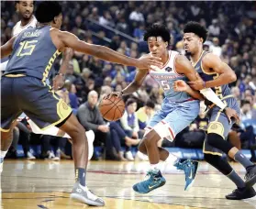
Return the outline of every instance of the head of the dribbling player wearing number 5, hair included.
<path id="1" fill-rule="evenodd" d="M 171 36 L 167 28 L 155 23 L 146 29 L 144 40 L 148 42 L 152 55 L 161 57 L 166 52 Z"/>

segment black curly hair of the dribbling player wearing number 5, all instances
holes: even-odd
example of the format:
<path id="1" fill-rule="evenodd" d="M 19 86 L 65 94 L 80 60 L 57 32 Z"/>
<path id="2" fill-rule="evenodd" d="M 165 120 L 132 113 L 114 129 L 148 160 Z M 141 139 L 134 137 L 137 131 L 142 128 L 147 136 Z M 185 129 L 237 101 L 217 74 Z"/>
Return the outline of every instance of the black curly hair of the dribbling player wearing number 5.
<path id="1" fill-rule="evenodd" d="M 171 40 L 169 30 L 159 23 L 154 23 L 146 29 L 146 32 L 144 34 L 144 40 L 148 41 L 148 38 L 150 37 L 161 37 L 163 41 L 168 42 L 168 44 L 170 44 Z"/>

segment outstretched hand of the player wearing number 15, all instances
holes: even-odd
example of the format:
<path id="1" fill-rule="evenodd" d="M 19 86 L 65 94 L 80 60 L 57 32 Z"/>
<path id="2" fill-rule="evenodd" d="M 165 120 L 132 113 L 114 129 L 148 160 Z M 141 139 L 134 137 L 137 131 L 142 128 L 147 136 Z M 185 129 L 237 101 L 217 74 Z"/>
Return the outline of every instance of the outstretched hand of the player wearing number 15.
<path id="1" fill-rule="evenodd" d="M 161 58 L 152 57 L 152 56 L 144 56 L 138 59 L 136 67 L 139 69 L 151 69 L 150 66 L 157 66 L 159 68 L 162 67 Z M 153 70 L 154 71 L 154 70 Z"/>

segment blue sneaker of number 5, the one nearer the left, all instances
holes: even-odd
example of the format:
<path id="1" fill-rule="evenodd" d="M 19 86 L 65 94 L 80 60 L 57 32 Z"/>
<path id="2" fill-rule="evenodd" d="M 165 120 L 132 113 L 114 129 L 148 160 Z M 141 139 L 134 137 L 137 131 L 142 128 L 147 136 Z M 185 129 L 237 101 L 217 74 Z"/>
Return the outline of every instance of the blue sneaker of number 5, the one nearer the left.
<path id="1" fill-rule="evenodd" d="M 149 170 L 146 180 L 136 183 L 132 188 L 135 192 L 148 193 L 163 186 L 165 182 L 160 170 Z"/>

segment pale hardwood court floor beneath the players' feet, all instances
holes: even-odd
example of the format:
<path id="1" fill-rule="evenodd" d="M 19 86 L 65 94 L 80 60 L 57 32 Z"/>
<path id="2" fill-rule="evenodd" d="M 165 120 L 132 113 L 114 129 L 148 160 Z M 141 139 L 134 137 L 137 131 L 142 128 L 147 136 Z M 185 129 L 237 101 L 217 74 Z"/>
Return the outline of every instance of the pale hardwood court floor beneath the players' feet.
<path id="1" fill-rule="evenodd" d="M 256 198 L 247 202 L 228 201 L 232 183 L 206 162 L 200 163 L 194 187 L 184 192 L 184 174 L 173 166 L 163 169 L 166 184 L 148 194 L 133 192 L 132 185 L 143 179 L 148 162 L 92 161 L 86 176 L 89 189 L 104 197 L 113 209 L 252 209 Z M 234 168 L 244 176 L 238 164 Z M 2 208 L 4 209 L 76 209 L 88 208 L 69 198 L 74 172 L 72 161 L 6 160 L 2 173 Z"/>

